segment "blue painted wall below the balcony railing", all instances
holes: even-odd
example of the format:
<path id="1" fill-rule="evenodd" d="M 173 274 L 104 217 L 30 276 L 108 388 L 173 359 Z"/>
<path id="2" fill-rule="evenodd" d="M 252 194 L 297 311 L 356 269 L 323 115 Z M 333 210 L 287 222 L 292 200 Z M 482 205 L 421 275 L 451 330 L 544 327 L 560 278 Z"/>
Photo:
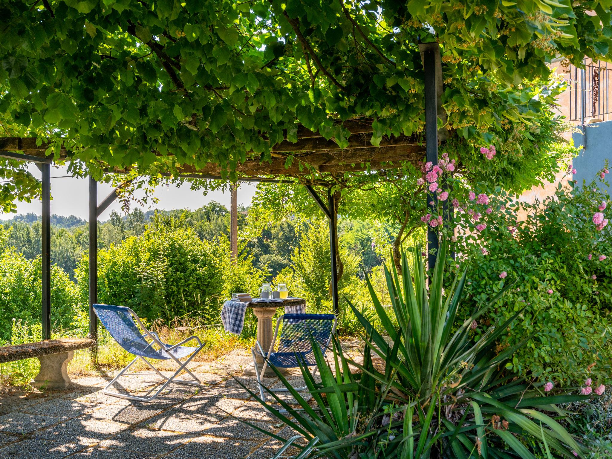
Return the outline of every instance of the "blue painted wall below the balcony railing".
<path id="1" fill-rule="evenodd" d="M 573 160 L 573 166 L 577 171 L 574 180 L 578 181 L 578 185 L 582 185 L 583 180 L 591 182 L 595 174 L 602 170 L 606 159 L 612 168 L 612 121 L 587 124 L 584 130 L 586 134 L 575 132 L 572 135 L 574 145 L 583 146 L 578 157 Z M 611 175 L 606 176 L 606 181 Z M 611 192 L 612 188 L 608 187 L 608 193 Z"/>

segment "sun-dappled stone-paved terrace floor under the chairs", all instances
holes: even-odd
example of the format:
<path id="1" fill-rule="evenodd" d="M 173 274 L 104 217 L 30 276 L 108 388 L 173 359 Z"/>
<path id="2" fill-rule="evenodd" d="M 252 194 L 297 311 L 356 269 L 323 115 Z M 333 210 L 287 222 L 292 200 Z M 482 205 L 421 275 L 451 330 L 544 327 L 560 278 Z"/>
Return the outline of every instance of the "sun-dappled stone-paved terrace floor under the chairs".
<path id="1" fill-rule="evenodd" d="M 348 343 L 346 347 L 355 349 L 356 343 Z M 231 378 L 230 374 L 235 375 L 255 391 L 255 378 L 242 376 L 242 368 L 250 362 L 250 354 L 244 350 L 233 351 L 214 362 L 192 362 L 190 369 L 203 382 L 200 389 L 173 384 L 149 403 L 102 394 L 103 387 L 117 371 L 103 376 L 72 376 L 75 387 L 69 390 L 2 395 L 0 458 L 272 457 L 282 446 L 281 442 L 244 424 L 241 419 L 284 438 L 294 432 L 267 414 Z M 158 365 L 162 371 L 163 363 Z M 299 370 L 291 370 L 287 378 L 294 386 L 304 385 Z M 159 376 L 151 375 L 150 370 L 142 371 L 119 379 L 116 388 L 139 389 L 138 395 L 143 396 L 151 394 L 158 381 Z M 277 378 L 266 378 L 264 382 L 268 387 L 280 387 Z M 295 401 L 286 393 L 280 397 Z M 296 452 L 294 449 L 293 454 Z"/>

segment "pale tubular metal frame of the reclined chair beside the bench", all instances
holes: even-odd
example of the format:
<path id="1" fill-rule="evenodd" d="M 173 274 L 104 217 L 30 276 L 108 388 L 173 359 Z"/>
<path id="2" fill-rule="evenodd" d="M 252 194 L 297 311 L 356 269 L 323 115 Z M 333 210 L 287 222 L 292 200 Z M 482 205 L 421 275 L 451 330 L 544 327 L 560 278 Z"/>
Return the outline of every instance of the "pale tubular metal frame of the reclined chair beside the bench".
<path id="1" fill-rule="evenodd" d="M 170 376 L 170 378 L 168 378 L 168 376 L 165 376 L 162 374 L 161 371 L 157 370 L 157 368 L 154 367 L 153 364 L 151 364 L 151 362 L 149 362 L 149 360 L 145 359 L 143 356 L 136 356 L 135 359 L 132 360 L 132 362 L 130 362 L 129 364 L 127 364 L 127 366 L 125 368 L 123 368 L 121 371 L 119 371 L 118 375 L 115 376 L 113 378 L 113 380 L 108 383 L 106 385 L 106 387 L 102 390 L 103 394 L 106 395 L 111 395 L 112 397 L 119 397 L 119 398 L 127 398 L 128 400 L 135 400 L 135 401 L 152 401 L 155 398 L 157 398 L 157 396 L 162 392 L 163 389 L 166 388 L 166 386 L 168 386 L 168 384 L 170 383 L 178 383 L 178 384 L 187 384 L 188 386 L 196 386 L 196 387 L 200 387 L 200 385 L 202 384 L 200 379 L 198 379 L 191 371 L 189 371 L 187 369 L 187 364 L 189 362 L 191 362 L 191 360 L 193 359 L 193 357 L 195 357 L 204 347 L 204 345 L 202 344 L 202 341 L 200 341 L 200 338 L 196 337 L 195 335 L 182 340 L 180 343 L 173 345 L 173 346 L 168 346 L 166 345 L 162 340 L 160 340 L 159 335 L 157 335 L 157 333 L 152 332 L 151 330 L 147 329 L 147 327 L 144 326 L 144 324 L 142 323 L 142 321 L 140 320 L 140 318 L 138 317 L 138 315 L 136 315 L 135 312 L 133 312 L 132 309 L 127 308 L 128 312 L 130 314 L 132 314 L 132 317 L 135 319 L 135 322 L 138 326 L 140 326 L 140 328 L 142 330 L 144 330 L 145 334 L 151 338 L 151 343 L 149 343 L 149 346 L 152 346 L 154 344 L 157 344 L 160 346 L 160 348 L 162 348 L 164 351 L 166 351 L 166 353 L 174 360 L 174 362 L 176 362 L 176 364 L 179 366 L 179 369 L 176 370 L 174 372 L 174 374 L 172 376 Z M 94 308 L 95 311 L 95 308 Z M 96 312 L 97 315 L 97 312 Z M 174 357 L 170 352 L 168 351 L 172 351 L 174 348 L 177 348 L 178 346 L 184 345 L 185 343 L 187 343 L 188 341 L 192 341 L 192 340 L 196 340 L 198 343 L 198 348 L 193 351 L 193 353 L 187 358 L 187 360 L 185 360 L 185 363 L 181 363 L 181 360 L 177 359 L 177 357 Z M 153 371 L 155 371 L 155 373 L 157 373 L 157 375 L 161 376 L 163 379 L 165 379 L 165 383 L 162 384 L 162 387 L 160 387 L 155 394 L 151 395 L 150 397 L 136 397 L 135 395 L 129 395 L 129 394 L 121 394 L 120 392 L 111 392 L 109 389 L 111 386 L 113 386 L 113 384 L 115 383 L 115 381 L 117 381 L 119 378 L 121 378 L 121 376 L 133 376 L 133 375 L 143 375 L 143 374 L 149 374 L 152 375 L 154 373 L 125 373 L 125 371 L 128 370 L 128 368 L 130 368 L 133 364 L 135 364 L 136 360 L 141 359 L 143 360 L 143 362 L 145 364 L 147 364 L 147 366 L 149 368 L 151 368 Z M 162 360 L 162 359 L 160 359 Z M 170 359 L 164 359 L 164 360 L 170 360 Z M 182 370 L 185 370 L 193 379 L 190 380 L 183 380 L 183 379 L 174 379 L 176 378 L 176 376 L 179 375 L 179 373 L 181 373 Z M 124 375 L 125 373 L 125 375 Z"/>

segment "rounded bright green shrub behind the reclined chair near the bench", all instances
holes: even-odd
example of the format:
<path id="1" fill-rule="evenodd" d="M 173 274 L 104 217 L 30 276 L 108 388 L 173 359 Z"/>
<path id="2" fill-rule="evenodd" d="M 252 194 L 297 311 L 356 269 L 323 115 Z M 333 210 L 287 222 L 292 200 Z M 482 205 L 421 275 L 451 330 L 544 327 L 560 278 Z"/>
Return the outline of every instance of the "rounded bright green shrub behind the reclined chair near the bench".
<path id="1" fill-rule="evenodd" d="M 190 228 L 147 230 L 98 253 L 100 302 L 128 306 L 149 320 L 217 313 L 225 252 L 201 241 Z M 86 302 L 88 256 L 81 259 L 76 277 Z"/>

